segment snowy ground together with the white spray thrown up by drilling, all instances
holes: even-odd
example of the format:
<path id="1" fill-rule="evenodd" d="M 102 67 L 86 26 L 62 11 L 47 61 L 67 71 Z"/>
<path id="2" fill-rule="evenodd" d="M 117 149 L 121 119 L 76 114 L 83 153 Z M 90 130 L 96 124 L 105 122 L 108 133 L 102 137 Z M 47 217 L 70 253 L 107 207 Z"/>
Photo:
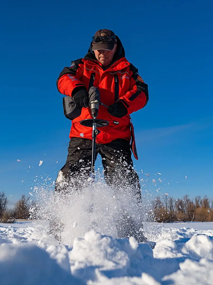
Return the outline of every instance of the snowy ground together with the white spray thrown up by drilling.
<path id="1" fill-rule="evenodd" d="M 90 192 L 90 179 L 78 192 L 53 195 L 51 178 L 41 177 L 44 188 L 37 179 L 29 193 L 39 219 L 0 224 L 0 284 L 212 285 L 213 222 L 148 222 L 147 208 L 136 206 L 128 187 L 115 191 L 98 180 Z M 60 175 L 57 182 L 63 186 Z M 133 237 L 117 238 L 121 213 L 138 223 L 154 249 Z M 63 224 L 60 244 L 48 233 L 52 217 Z"/>

